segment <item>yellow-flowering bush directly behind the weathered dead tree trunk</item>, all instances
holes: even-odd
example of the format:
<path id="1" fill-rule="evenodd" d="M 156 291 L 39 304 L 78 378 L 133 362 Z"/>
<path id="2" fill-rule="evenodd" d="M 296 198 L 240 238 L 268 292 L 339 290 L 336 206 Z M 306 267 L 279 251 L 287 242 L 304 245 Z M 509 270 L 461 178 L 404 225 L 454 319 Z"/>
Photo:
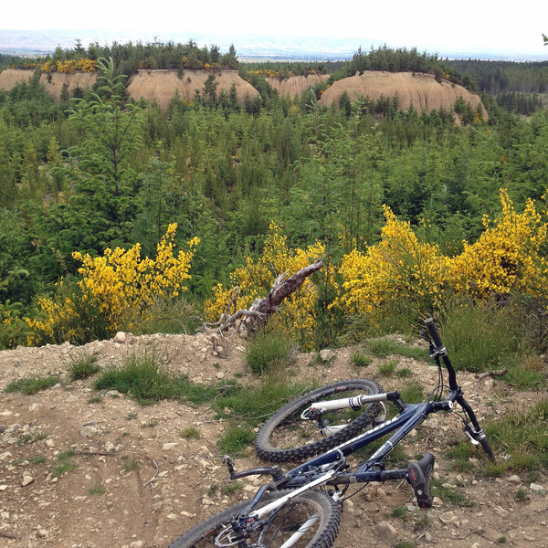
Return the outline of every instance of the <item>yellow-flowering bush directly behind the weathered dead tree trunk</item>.
<path id="1" fill-rule="evenodd" d="M 246 265 L 234 270 L 230 275 L 231 288 L 218 284 L 213 288 L 214 296 L 205 303 L 205 317 L 208 321 L 218 321 L 222 313 L 231 314 L 240 309 L 248 309 L 253 301 L 269 294 L 276 277 L 282 272 L 288 276 L 310 265 L 321 257 L 325 248 L 320 242 L 306 249 L 291 249 L 287 237 L 279 227 L 270 223 L 269 236 L 265 241 L 263 254 L 254 261 L 247 258 Z M 232 302 L 238 288 L 237 301 Z M 304 280 L 299 290 L 283 301 L 280 310 L 274 314 L 270 323 L 283 326 L 286 332 L 300 337 L 302 341 L 311 341 L 311 331 L 316 312 L 316 285 L 310 278 Z"/>

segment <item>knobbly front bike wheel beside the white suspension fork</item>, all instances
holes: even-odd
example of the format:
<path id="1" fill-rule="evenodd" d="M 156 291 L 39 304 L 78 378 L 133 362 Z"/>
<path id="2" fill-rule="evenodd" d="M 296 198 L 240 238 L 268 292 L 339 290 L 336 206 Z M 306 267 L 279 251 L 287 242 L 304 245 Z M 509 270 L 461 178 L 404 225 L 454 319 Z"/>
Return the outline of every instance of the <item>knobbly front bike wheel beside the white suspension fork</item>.
<path id="1" fill-rule="evenodd" d="M 334 448 L 369 427 L 383 412 L 379 403 L 360 409 L 332 409 L 318 416 L 302 418 L 312 404 L 319 401 L 374 395 L 384 392 L 381 385 L 370 379 L 351 379 L 301 395 L 290 401 L 258 430 L 255 448 L 258 456 L 272 462 L 303 460 Z"/>

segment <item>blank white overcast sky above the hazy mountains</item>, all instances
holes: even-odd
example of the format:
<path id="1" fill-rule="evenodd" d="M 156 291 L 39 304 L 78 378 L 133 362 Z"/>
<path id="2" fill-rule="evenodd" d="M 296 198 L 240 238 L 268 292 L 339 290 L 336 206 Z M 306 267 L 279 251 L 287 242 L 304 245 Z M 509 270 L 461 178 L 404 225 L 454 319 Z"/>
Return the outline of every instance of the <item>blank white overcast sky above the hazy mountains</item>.
<path id="1" fill-rule="evenodd" d="M 548 58 L 548 0 L 27 0 L 5 2 L 9 29 L 134 29 L 244 36 L 357 37 L 429 52 L 490 50 Z M 153 36 L 153 35 L 152 35 Z M 218 40 L 220 42 L 220 40 Z M 212 43 L 216 43 L 212 40 Z"/>

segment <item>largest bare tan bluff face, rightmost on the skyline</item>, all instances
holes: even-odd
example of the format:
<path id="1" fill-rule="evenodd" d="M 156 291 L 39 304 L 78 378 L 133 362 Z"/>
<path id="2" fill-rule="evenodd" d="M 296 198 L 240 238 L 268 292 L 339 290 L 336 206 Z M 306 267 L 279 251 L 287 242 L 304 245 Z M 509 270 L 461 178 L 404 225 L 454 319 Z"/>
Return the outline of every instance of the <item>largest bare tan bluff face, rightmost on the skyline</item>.
<path id="1" fill-rule="evenodd" d="M 386 72 L 366 70 L 349 78 L 337 80 L 321 95 L 319 104 L 329 106 L 338 103 L 346 91 L 350 100 L 356 95 L 369 96 L 371 100 L 397 97 L 397 108 L 406 110 L 413 105 L 416 111 L 435 111 L 440 107 L 452 111 L 455 101 L 462 96 L 475 108 L 481 101 L 479 96 L 448 80 L 437 82 L 431 74 L 418 72 Z"/>

